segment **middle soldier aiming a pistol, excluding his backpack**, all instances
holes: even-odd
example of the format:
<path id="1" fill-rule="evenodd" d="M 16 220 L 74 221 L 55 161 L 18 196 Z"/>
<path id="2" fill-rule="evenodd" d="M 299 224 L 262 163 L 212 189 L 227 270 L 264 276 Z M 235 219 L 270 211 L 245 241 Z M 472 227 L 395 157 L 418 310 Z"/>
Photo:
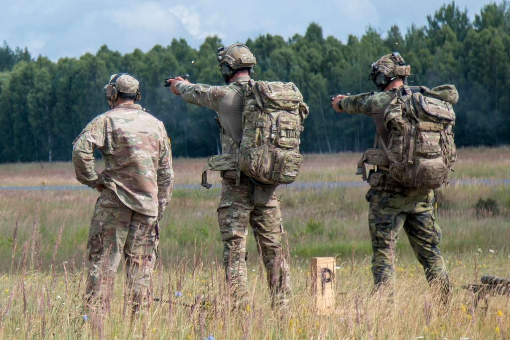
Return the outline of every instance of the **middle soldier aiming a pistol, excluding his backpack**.
<path id="1" fill-rule="evenodd" d="M 240 144 L 244 84 L 250 81 L 256 59 L 242 44 L 220 48 L 219 68 L 227 85 L 191 84 L 181 77 L 170 79 L 170 90 L 189 103 L 216 111 L 220 124 L 222 153 L 235 153 L 230 141 Z M 236 185 L 237 171 L 221 171 L 222 187 L 218 205 L 218 223 L 223 241 L 225 277 L 237 306 L 246 304 L 247 224 L 253 229 L 257 249 L 267 270 L 272 305 L 287 305 L 290 277 L 282 250 L 284 234 L 280 203 L 274 195 L 276 186 L 262 186 L 243 173 Z"/>

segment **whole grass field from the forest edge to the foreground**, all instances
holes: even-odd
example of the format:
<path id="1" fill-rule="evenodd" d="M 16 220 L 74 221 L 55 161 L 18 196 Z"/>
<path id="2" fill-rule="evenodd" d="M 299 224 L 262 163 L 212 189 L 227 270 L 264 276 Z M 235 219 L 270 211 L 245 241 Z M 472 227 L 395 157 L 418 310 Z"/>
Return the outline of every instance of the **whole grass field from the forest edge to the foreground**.
<path id="1" fill-rule="evenodd" d="M 358 158 L 355 153 L 308 155 L 299 181 L 359 181 L 359 176 L 354 175 Z M 452 180 L 510 178 L 508 147 L 461 149 L 458 158 Z M 197 184 L 204 162 L 174 160 L 175 183 Z M 210 177 L 219 182 L 217 175 Z M 78 185 L 71 164 L 0 165 L 0 187 L 56 185 Z M 385 294 L 370 295 L 371 248 L 364 198 L 367 188 L 278 189 L 294 286 L 291 308 L 284 315 L 269 307 L 258 257 L 251 255 L 256 254 L 251 238 L 247 250 L 252 304 L 242 313 L 230 313 L 222 286 L 222 268 L 218 266 L 222 248 L 216 221 L 219 190 L 176 189 L 161 223 L 154 290 L 158 296 L 186 303 L 196 295 L 204 295 L 208 304 L 201 312 L 191 312 L 180 305 L 154 303 L 131 326 L 124 322 L 121 275 L 108 315 L 87 316 L 88 320 L 83 320 L 83 258 L 98 194 L 92 190 L 3 190 L 0 335 L 200 340 L 209 335 L 215 339 L 510 338 L 509 299 L 491 298 L 484 312 L 480 307 L 473 309 L 469 293 L 461 289 L 462 284 L 475 281 L 482 274 L 510 276 L 509 189 L 509 185 L 473 184 L 441 190 L 441 249 L 454 285 L 452 303 L 446 311 L 434 303 L 433 292 L 403 233 L 396 249 L 393 300 L 385 302 Z M 495 200 L 496 214 L 477 210 L 477 201 L 488 198 Z M 50 264 L 62 225 L 53 272 Z M 311 256 L 337 256 L 337 308 L 329 318 L 316 316 L 311 307 Z M 183 296 L 175 297 L 177 291 Z"/>

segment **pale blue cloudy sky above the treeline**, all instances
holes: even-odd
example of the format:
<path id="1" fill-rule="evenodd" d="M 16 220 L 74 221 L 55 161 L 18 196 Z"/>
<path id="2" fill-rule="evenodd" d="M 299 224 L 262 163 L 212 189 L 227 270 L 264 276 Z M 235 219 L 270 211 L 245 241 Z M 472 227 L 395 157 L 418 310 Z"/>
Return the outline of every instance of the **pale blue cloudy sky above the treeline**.
<path id="1" fill-rule="evenodd" d="M 456 0 L 471 19 L 489 0 Z M 32 56 L 52 60 L 95 53 L 103 44 L 121 53 L 149 50 L 184 38 L 198 47 L 207 36 L 219 36 L 225 45 L 272 34 L 289 38 L 304 34 L 310 22 L 324 36 L 346 41 L 361 36 L 368 25 L 385 34 L 393 24 L 402 32 L 412 23 L 426 24 L 444 0 L 385 2 L 381 0 L 0 0 L 0 42 L 11 48 L 28 47 Z M 398 7 L 397 7 L 398 4 Z M 117 6 L 115 6 L 117 5 Z M 398 15 L 397 15 L 398 14 Z"/>

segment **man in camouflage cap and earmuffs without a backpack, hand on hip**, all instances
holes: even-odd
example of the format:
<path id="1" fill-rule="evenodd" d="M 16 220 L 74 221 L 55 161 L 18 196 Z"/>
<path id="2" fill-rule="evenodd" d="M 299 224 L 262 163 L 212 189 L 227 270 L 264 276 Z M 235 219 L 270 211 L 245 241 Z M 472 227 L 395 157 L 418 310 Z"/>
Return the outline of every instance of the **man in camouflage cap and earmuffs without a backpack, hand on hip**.
<path id="1" fill-rule="evenodd" d="M 76 178 L 100 192 L 88 238 L 86 300 L 104 298 L 123 258 L 133 312 L 145 300 L 158 256 L 159 220 L 173 188 L 172 154 L 163 123 L 135 101 L 139 82 L 113 74 L 105 86 L 112 110 L 94 118 L 73 142 Z M 97 173 L 98 149 L 105 170 Z"/>

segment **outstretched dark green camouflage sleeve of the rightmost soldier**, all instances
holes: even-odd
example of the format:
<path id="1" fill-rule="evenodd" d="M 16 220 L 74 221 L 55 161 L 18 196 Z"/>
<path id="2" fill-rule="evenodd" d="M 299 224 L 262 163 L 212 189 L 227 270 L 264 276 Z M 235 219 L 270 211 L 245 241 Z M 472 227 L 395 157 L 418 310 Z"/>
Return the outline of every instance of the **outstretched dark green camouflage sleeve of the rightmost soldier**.
<path id="1" fill-rule="evenodd" d="M 367 92 L 354 96 L 347 96 L 341 101 L 343 111 L 355 114 L 372 115 L 384 113 L 394 96 L 386 92 Z"/>

